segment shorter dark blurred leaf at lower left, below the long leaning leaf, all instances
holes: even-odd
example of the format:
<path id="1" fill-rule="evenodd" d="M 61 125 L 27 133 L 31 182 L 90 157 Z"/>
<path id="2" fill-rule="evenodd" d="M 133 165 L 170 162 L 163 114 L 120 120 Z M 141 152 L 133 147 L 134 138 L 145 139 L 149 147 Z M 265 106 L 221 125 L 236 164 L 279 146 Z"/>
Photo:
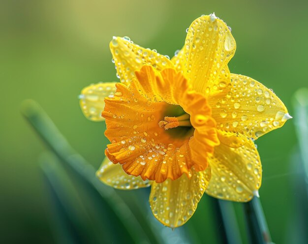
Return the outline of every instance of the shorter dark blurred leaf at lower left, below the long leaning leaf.
<path id="1" fill-rule="evenodd" d="M 98 243 L 100 237 L 94 235 L 91 219 L 81 206 L 81 201 L 58 158 L 53 153 L 46 152 L 40 158 L 40 166 L 47 189 L 51 193 L 50 200 L 54 211 L 50 215 L 54 220 L 53 229 L 56 230 L 58 243 Z M 104 239 L 112 242 L 109 233 L 102 230 L 103 233 L 100 234 Z"/>

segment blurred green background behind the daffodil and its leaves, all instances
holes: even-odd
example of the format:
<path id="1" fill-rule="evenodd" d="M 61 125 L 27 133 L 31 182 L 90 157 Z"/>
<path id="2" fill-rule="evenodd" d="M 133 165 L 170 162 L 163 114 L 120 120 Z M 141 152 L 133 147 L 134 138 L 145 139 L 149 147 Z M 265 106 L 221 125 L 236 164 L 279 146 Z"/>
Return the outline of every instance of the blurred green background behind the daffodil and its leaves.
<path id="1" fill-rule="evenodd" d="M 308 1 L 0 1 L 1 243 L 55 242 L 54 213 L 38 163 L 46 149 L 21 115 L 22 101 L 36 100 L 72 147 L 98 168 L 107 143 L 105 125 L 84 118 L 78 94 L 91 83 L 118 80 L 108 48 L 112 36 L 127 35 L 172 57 L 190 23 L 213 12 L 237 41 L 230 71 L 272 88 L 293 115 L 292 95 L 308 84 Z M 289 243 L 294 198 L 300 194 L 292 184 L 297 177 L 291 160 L 297 145 L 293 122 L 256 144 L 269 229 L 275 243 Z M 204 197 L 189 221 L 197 226 L 194 238 L 216 243 L 219 223 L 211 208 Z"/>

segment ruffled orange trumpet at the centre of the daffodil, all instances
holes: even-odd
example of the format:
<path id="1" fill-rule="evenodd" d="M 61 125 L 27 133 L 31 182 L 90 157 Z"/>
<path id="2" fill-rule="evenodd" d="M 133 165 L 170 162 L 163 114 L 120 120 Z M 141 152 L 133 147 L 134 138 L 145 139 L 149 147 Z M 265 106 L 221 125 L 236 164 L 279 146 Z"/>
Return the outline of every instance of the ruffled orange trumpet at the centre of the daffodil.
<path id="1" fill-rule="evenodd" d="M 108 158 L 122 164 L 127 174 L 156 183 L 184 173 L 190 177 L 193 165 L 196 171 L 205 170 L 208 154 L 219 144 L 206 98 L 191 91 L 174 69 L 157 72 L 146 65 L 136 77 L 129 87 L 118 84 L 115 96 L 105 99 L 105 135 L 112 142 L 105 151 Z M 194 129 L 160 128 L 158 122 L 179 108 L 182 113 L 176 116 L 187 112 Z"/>

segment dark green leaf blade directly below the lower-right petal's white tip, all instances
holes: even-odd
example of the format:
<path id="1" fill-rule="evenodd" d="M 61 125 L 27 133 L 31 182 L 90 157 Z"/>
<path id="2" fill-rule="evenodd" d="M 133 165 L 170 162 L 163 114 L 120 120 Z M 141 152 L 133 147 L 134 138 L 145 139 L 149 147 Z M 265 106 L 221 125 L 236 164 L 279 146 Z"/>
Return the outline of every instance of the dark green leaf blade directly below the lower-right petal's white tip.
<path id="1" fill-rule="evenodd" d="M 250 243 L 271 244 L 272 239 L 263 213 L 262 205 L 258 197 L 244 204 L 246 221 Z"/>

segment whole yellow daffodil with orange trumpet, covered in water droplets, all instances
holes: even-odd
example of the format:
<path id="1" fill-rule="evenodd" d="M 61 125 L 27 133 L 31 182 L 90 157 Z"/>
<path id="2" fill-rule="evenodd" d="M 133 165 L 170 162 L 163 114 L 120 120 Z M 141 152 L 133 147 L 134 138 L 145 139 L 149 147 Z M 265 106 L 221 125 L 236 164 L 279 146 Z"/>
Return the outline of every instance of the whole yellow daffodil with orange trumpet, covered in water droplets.
<path id="1" fill-rule="evenodd" d="M 291 117 L 273 91 L 230 73 L 236 42 L 222 20 L 196 19 L 171 60 L 127 37 L 114 37 L 110 49 L 121 83 L 81 95 L 86 117 L 106 121 L 111 144 L 97 171 L 102 182 L 151 185 L 154 216 L 170 227 L 192 216 L 204 192 L 237 202 L 258 194 L 253 141 Z"/>

